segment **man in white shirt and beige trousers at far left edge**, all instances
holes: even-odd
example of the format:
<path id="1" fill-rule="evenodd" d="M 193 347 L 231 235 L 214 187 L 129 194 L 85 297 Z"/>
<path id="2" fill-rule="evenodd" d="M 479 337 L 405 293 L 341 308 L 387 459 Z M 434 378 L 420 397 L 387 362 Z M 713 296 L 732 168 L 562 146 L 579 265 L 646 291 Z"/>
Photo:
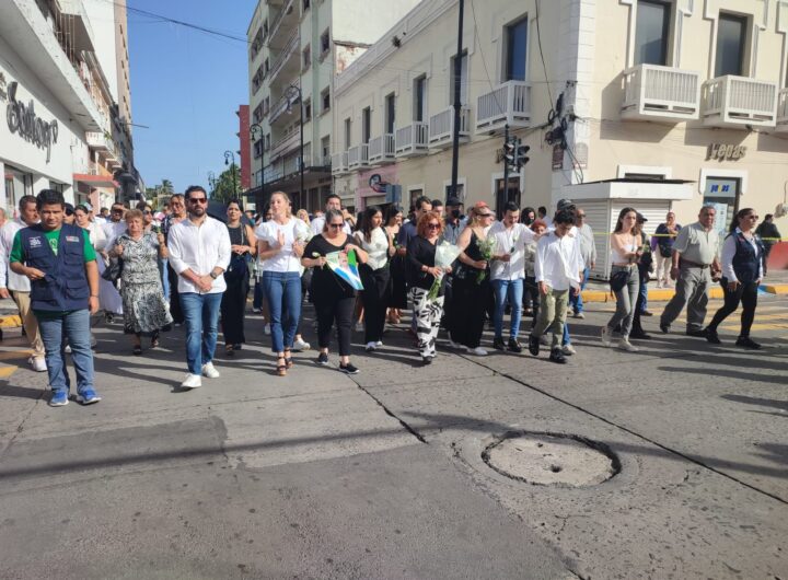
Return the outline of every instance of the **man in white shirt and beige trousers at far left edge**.
<path id="1" fill-rule="evenodd" d="M 30 278 L 15 274 L 9 268 L 9 256 L 13 246 L 13 239 L 22 228 L 38 223 L 38 209 L 36 198 L 22 196 L 19 202 L 19 218 L 5 223 L 0 233 L 0 298 L 13 298 L 20 310 L 20 317 L 25 329 L 27 340 L 33 348 L 33 356 L 27 360 L 34 371 L 46 371 L 44 360 L 44 343 L 38 330 L 38 318 L 33 314 L 30 302 Z M 5 280 L 8 279 L 8 288 Z M 9 294 L 10 291 L 10 294 Z"/>

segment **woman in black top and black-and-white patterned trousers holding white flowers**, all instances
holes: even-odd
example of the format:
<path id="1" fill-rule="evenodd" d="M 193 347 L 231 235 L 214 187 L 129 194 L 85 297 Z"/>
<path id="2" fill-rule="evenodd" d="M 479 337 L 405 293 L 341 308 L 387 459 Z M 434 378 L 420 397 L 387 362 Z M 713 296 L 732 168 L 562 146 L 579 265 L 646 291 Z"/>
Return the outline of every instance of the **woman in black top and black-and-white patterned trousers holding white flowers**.
<path id="1" fill-rule="evenodd" d="M 438 240 L 443 233 L 443 220 L 437 212 L 428 211 L 416 225 L 417 235 L 407 245 L 405 277 L 414 302 L 418 349 L 425 364 L 436 356 L 436 338 L 443 316 L 443 287 L 437 298 L 429 298 L 432 282 L 443 272 L 434 265 Z M 451 267 L 445 269 L 451 271 Z"/>

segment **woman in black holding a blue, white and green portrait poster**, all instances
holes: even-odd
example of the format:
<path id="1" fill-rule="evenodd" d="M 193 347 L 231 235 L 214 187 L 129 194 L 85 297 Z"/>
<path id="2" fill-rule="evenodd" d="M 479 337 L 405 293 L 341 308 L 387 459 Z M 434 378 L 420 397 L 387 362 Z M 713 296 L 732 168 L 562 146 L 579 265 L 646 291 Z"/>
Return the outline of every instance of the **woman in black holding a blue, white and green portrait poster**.
<path id="1" fill-rule="evenodd" d="M 344 227 L 345 219 L 340 211 L 335 209 L 326 211 L 323 233 L 315 235 L 306 244 L 301 265 L 304 268 L 314 268 L 310 297 L 312 297 L 317 314 L 317 345 L 320 346 L 317 363 L 328 364 L 331 330 L 336 321 L 339 340 L 339 370 L 348 374 L 356 374 L 359 371 L 350 362 L 350 334 L 356 290 L 326 266 L 325 258 L 327 254 L 334 252 L 347 255 L 352 250 L 356 252 L 359 263 L 367 262 L 367 252 L 356 245 L 355 240 L 343 231 Z"/>

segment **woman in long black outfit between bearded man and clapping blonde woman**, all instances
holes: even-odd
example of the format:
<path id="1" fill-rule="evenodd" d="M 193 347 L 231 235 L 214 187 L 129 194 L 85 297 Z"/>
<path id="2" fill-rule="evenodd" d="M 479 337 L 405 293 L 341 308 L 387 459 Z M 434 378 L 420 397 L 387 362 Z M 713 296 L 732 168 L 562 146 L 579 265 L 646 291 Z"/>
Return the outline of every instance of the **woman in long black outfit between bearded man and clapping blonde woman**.
<path id="1" fill-rule="evenodd" d="M 241 201 L 231 199 L 228 204 L 228 231 L 230 232 L 230 266 L 224 272 L 227 290 L 222 294 L 221 317 L 224 334 L 224 351 L 228 357 L 241 350 L 246 341 L 244 335 L 244 314 L 248 294 L 248 259 L 257 251 L 257 240 L 252 228 L 243 222 Z"/>

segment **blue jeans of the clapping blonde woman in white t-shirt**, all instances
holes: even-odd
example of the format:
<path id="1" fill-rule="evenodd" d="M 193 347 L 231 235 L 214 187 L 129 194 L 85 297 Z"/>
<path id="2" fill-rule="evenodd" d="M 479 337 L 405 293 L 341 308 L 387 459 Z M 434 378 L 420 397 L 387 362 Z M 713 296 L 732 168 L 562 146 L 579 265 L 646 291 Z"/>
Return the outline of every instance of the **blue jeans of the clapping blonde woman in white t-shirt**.
<path id="1" fill-rule="evenodd" d="M 301 276 L 297 271 L 264 271 L 265 288 L 271 324 L 271 350 L 283 352 L 292 348 L 301 317 Z"/>

